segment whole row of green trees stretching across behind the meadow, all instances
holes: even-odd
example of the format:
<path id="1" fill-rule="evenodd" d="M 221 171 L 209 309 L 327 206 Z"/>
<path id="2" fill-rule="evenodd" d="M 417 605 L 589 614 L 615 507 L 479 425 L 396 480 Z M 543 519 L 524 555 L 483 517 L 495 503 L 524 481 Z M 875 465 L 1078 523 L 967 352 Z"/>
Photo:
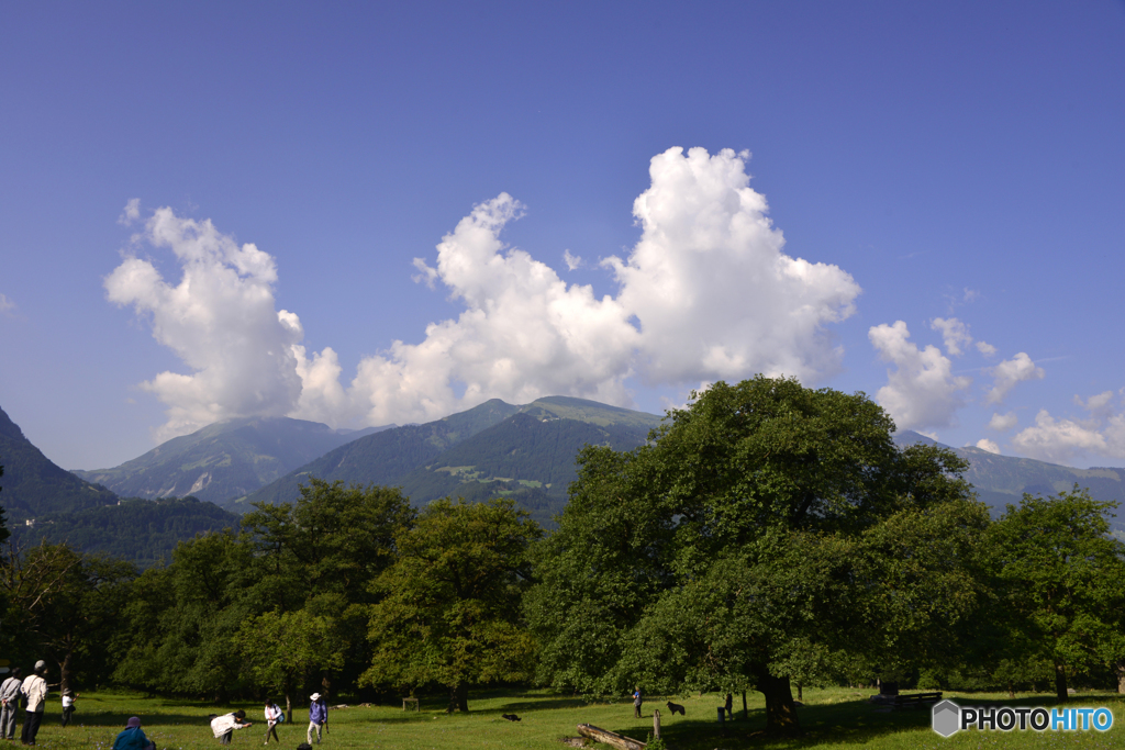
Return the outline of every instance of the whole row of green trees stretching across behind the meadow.
<path id="1" fill-rule="evenodd" d="M 543 534 L 510 499 L 309 479 L 138 572 L 66 544 L 0 560 L 0 648 L 64 686 L 223 702 L 487 684 L 587 695 L 1125 687 L 1113 503 L 1025 496 L 999 519 L 863 394 L 717 383 L 632 451 L 587 446 Z M 7 532 L 0 530 L 0 541 Z"/>

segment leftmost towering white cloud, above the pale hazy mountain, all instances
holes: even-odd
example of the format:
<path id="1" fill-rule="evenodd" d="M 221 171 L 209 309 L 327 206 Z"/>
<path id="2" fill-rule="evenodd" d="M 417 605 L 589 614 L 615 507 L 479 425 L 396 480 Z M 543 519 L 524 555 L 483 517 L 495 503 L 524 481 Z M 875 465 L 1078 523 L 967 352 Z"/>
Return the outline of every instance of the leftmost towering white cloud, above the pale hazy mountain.
<path id="1" fill-rule="evenodd" d="M 295 315 L 274 308 L 273 259 L 170 208 L 154 211 L 136 240 L 171 249 L 182 268 L 172 284 L 134 254 L 105 280 L 109 299 L 150 316 L 156 341 L 192 371 L 165 371 L 142 383 L 169 407 L 156 437 L 291 409 L 302 392 L 292 346 L 303 334 Z"/>

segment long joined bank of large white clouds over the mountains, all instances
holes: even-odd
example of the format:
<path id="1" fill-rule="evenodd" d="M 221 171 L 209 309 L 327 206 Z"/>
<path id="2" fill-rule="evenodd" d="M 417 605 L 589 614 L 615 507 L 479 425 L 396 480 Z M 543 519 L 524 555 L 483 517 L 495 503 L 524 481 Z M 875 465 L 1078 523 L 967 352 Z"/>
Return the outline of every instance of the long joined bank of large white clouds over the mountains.
<path id="1" fill-rule="evenodd" d="M 164 435 L 235 414 L 385 424 L 488 398 L 560 394 L 629 405 L 631 377 L 675 386 L 758 372 L 824 380 L 842 354 L 827 326 L 854 311 L 860 287 L 835 265 L 783 252 L 746 159 L 703 148 L 652 159 L 651 187 L 633 207 L 641 237 L 627 257 L 602 261 L 615 296 L 568 286 L 507 247 L 501 232 L 522 213 L 511 196 L 476 206 L 442 238 L 435 261 L 415 260 L 413 277 L 440 283 L 462 311 L 430 324 L 418 343 L 396 341 L 364 358 L 346 388 L 336 353 L 307 353 L 297 316 L 274 310 L 272 259 L 240 249 L 209 222 L 161 209 L 146 225 L 145 238 L 183 264 L 178 286 L 137 257 L 106 286 L 111 300 L 151 314 L 154 336 L 194 371 L 145 383 L 169 405 Z M 572 269 L 582 262 L 565 260 Z"/>

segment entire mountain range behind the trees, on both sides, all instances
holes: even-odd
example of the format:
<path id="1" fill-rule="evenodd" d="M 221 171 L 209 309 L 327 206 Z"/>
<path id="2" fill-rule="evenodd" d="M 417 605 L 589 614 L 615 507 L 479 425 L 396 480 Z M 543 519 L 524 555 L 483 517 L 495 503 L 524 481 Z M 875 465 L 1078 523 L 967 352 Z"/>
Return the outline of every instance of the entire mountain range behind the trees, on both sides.
<path id="1" fill-rule="evenodd" d="M 415 505 L 449 495 L 512 497 L 551 526 L 577 476 L 583 445 L 630 450 L 662 419 L 561 396 L 523 406 L 493 399 L 426 424 L 351 433 L 254 417 L 210 425 L 112 469 L 69 472 L 0 409 L 0 506 L 22 544 L 70 540 L 86 551 L 143 564 L 168 557 L 179 540 L 237 525 L 253 503 L 295 500 L 308 477 L 397 486 Z M 894 440 L 940 445 L 910 431 Z M 976 448 L 950 450 L 969 461 L 965 478 L 996 516 L 1024 493 L 1052 495 L 1076 484 L 1095 498 L 1125 504 L 1125 469 L 1072 469 Z M 1113 525 L 1125 539 L 1125 523 L 1115 518 Z"/>

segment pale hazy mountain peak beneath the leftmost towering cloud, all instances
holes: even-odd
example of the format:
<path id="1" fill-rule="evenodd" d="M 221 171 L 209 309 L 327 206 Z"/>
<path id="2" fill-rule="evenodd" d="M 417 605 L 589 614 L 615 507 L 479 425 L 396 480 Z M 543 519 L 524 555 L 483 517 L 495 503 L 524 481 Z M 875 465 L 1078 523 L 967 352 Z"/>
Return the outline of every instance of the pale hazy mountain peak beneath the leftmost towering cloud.
<path id="1" fill-rule="evenodd" d="M 75 471 L 123 497 L 184 497 L 220 501 L 252 493 L 299 466 L 364 434 L 318 422 L 246 417 L 174 437 L 112 469 Z"/>

